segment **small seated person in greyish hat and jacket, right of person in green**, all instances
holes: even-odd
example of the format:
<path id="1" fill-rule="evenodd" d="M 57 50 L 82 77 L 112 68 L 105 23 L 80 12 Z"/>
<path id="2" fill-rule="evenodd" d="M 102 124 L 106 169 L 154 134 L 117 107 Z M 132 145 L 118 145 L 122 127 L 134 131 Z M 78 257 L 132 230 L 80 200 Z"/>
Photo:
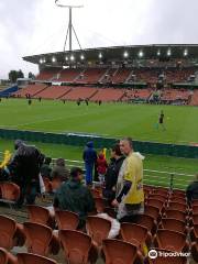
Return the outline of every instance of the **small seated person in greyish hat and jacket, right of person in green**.
<path id="1" fill-rule="evenodd" d="M 58 178 L 61 182 L 66 182 L 69 178 L 69 170 L 65 166 L 65 160 L 64 158 L 57 158 L 56 165 L 52 169 L 51 178 Z"/>

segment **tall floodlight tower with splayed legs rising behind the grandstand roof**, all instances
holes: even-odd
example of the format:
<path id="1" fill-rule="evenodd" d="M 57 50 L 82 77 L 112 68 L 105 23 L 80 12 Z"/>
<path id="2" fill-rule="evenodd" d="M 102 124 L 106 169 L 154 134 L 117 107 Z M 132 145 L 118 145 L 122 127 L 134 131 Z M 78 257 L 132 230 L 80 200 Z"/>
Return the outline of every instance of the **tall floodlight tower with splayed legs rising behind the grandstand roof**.
<path id="1" fill-rule="evenodd" d="M 67 33 L 66 33 L 66 38 L 65 38 L 65 43 L 64 43 L 64 52 L 66 51 L 66 44 L 67 44 L 67 37 L 69 35 L 69 53 L 73 51 L 73 31 L 74 31 L 74 34 L 76 36 L 76 40 L 78 42 L 78 45 L 81 50 L 81 45 L 79 43 L 79 40 L 78 40 L 78 36 L 76 34 L 76 31 L 73 26 L 73 9 L 75 8 L 82 8 L 84 6 L 69 6 L 69 4 L 64 4 L 64 3 L 61 3 L 61 0 L 55 0 L 55 4 L 59 8 L 67 8 L 69 10 L 69 22 L 68 22 L 68 28 L 67 28 Z"/>

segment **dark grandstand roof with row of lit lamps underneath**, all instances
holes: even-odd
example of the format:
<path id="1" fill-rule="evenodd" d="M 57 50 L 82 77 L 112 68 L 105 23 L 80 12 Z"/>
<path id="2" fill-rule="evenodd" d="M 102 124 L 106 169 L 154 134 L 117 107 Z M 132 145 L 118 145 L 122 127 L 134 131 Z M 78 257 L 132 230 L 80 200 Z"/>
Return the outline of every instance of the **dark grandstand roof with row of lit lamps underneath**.
<path id="1" fill-rule="evenodd" d="M 24 61 L 46 66 L 133 62 L 135 59 L 198 59 L 198 44 L 161 44 L 111 46 L 72 52 L 55 52 L 23 57 Z"/>

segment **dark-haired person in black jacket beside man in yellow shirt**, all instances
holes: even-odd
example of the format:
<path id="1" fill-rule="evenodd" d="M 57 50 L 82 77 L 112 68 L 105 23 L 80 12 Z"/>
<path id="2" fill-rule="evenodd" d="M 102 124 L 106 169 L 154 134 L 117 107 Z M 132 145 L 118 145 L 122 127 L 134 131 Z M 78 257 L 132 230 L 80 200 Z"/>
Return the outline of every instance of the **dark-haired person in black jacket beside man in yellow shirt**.
<path id="1" fill-rule="evenodd" d="M 120 151 L 120 145 L 116 144 L 111 148 L 110 164 L 105 176 L 106 188 L 103 190 L 103 197 L 107 198 L 110 204 L 116 197 L 117 180 L 124 158 Z"/>

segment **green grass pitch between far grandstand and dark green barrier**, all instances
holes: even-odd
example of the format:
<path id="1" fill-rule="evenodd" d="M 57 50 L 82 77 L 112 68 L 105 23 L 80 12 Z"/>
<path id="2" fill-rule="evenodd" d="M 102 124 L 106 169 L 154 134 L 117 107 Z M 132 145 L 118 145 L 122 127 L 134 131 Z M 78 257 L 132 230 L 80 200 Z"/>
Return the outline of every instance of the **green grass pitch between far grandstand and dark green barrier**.
<path id="1" fill-rule="evenodd" d="M 160 111 L 164 110 L 166 131 L 157 130 Z M 3 99 L 0 127 L 48 132 L 84 132 L 105 136 L 132 136 L 134 140 L 170 143 L 198 143 L 198 108 L 85 103 L 56 100 Z"/>

